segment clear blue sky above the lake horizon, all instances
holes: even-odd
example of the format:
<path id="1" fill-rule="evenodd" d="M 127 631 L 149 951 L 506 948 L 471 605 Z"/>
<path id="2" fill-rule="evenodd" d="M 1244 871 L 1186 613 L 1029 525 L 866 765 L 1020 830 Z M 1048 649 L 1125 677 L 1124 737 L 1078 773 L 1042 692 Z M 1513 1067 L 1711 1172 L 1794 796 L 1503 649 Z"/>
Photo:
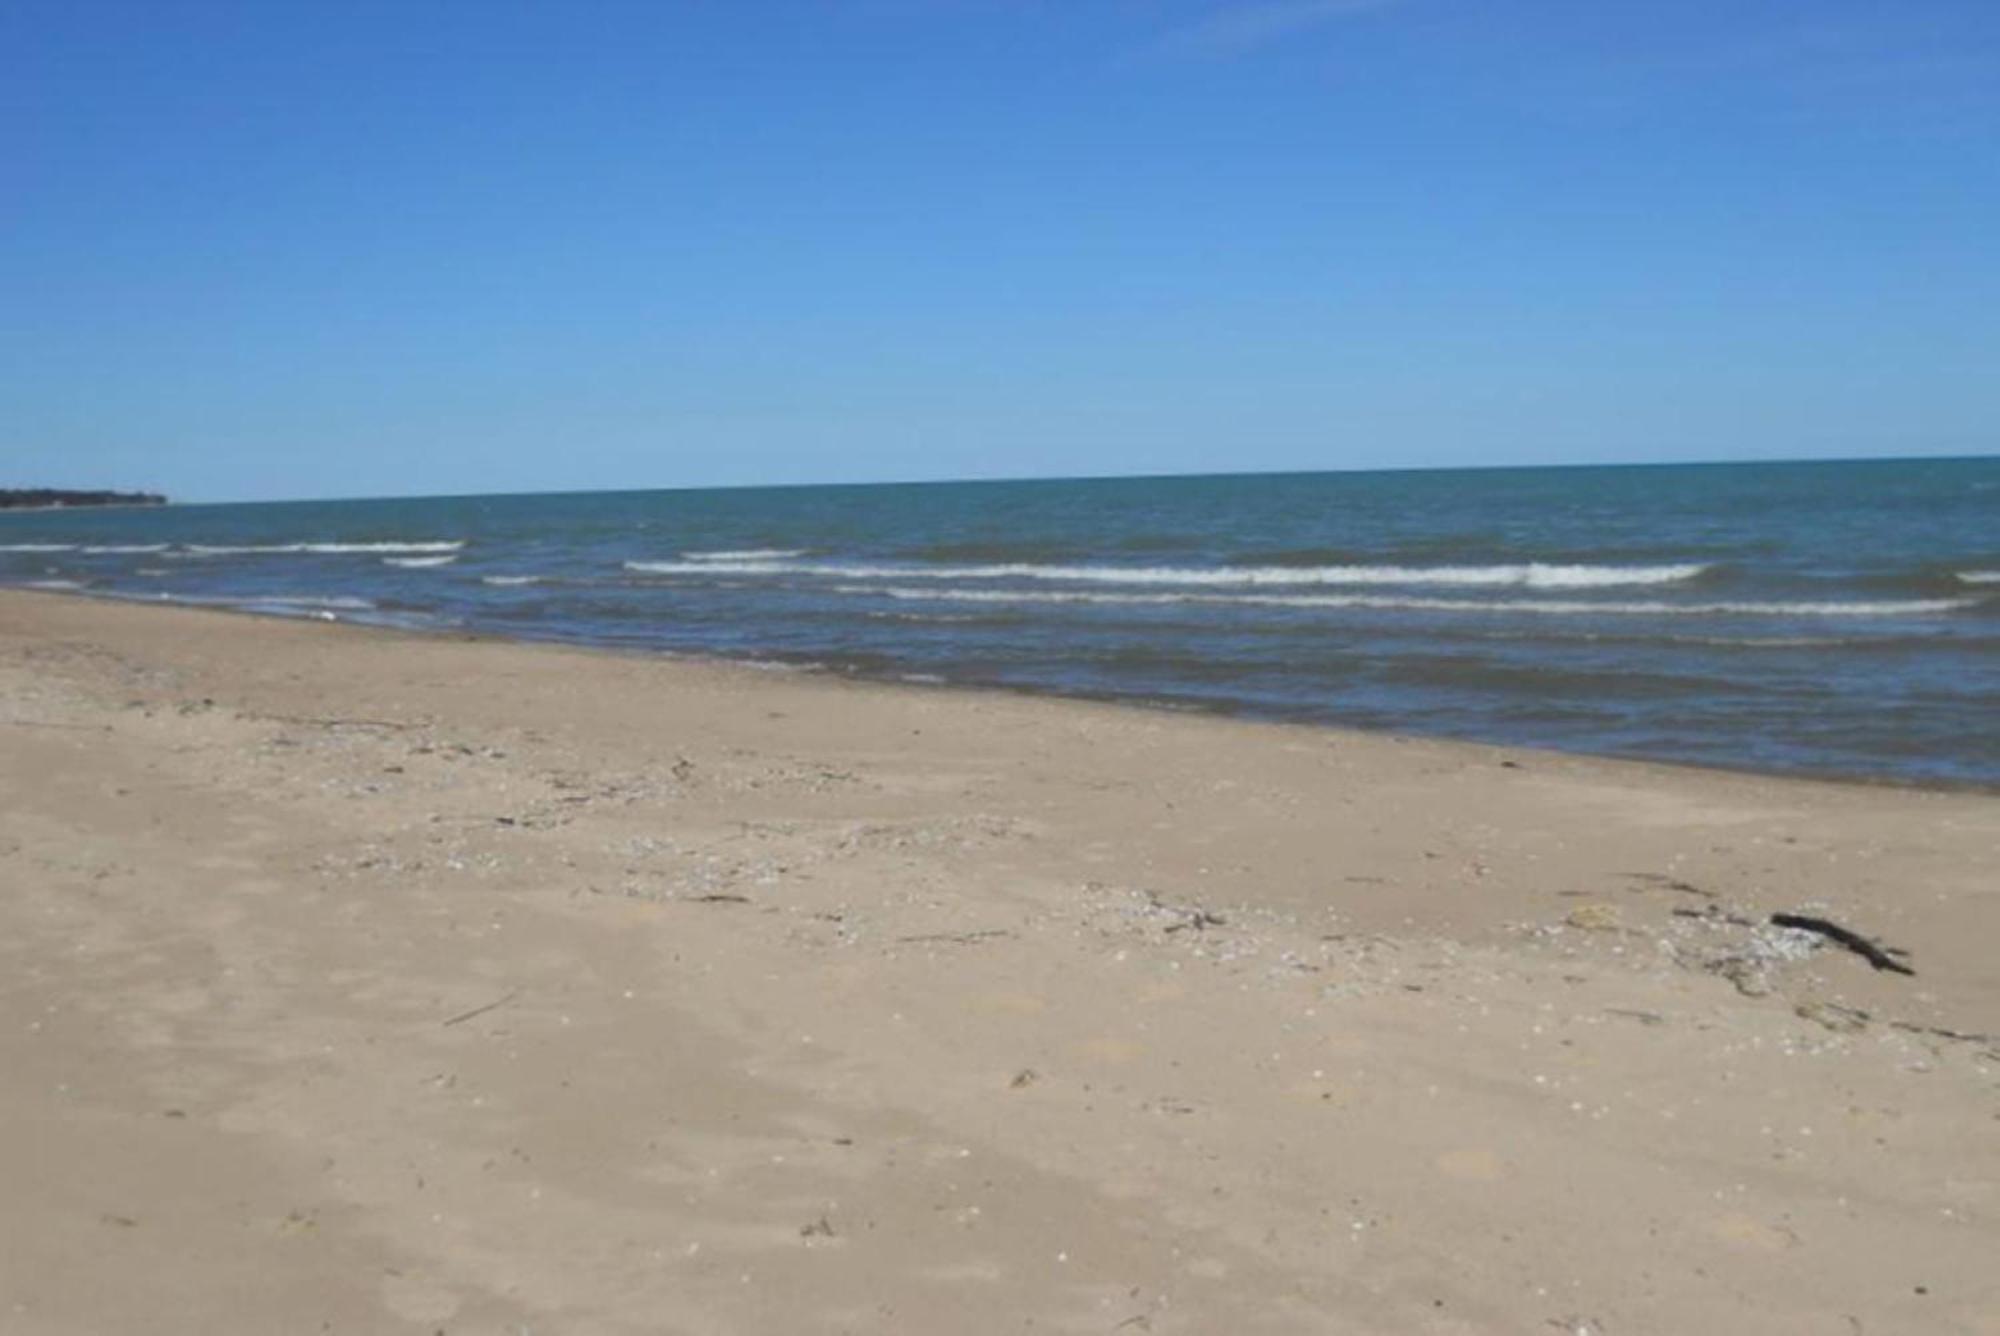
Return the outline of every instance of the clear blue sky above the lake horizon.
<path id="1" fill-rule="evenodd" d="M 0 484 L 1984 454 L 1994 0 L 0 6 Z"/>

